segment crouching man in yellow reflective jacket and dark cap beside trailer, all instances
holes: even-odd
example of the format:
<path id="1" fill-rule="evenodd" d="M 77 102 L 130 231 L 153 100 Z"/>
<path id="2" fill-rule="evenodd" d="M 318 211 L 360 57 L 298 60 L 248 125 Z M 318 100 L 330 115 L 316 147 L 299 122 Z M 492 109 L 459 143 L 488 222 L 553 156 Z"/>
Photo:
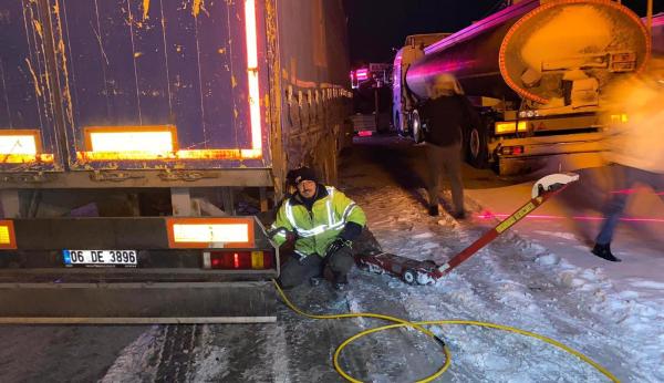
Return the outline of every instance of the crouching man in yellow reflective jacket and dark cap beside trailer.
<path id="1" fill-rule="evenodd" d="M 355 262 L 352 241 L 366 224 L 364 211 L 342 192 L 319 184 L 308 167 L 289 172 L 287 178 L 292 179 L 297 192 L 279 208 L 272 229 L 284 230 L 273 238 L 281 246 L 287 241 L 286 231 L 294 231 L 297 239 L 294 250 L 281 268 L 279 282 L 284 288 L 294 287 L 322 276 L 326 268 L 334 288 L 343 290 Z"/>

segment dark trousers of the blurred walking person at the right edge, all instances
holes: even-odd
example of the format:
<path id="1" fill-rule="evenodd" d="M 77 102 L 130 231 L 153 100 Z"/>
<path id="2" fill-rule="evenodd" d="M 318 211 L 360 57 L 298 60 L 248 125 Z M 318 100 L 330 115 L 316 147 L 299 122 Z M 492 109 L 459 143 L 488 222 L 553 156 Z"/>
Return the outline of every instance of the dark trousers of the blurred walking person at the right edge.
<path id="1" fill-rule="evenodd" d="M 614 192 L 629 189 L 635 184 L 647 185 L 657 193 L 664 192 L 664 174 L 613 164 L 611 165 L 611 176 L 613 177 Z M 613 230 L 627 204 L 629 196 L 630 195 L 626 193 L 613 193 L 611 195 L 611 198 L 604 206 L 603 213 L 605 220 L 602 224 L 600 234 L 595 238 L 596 244 L 606 245 L 611 242 L 611 239 L 613 239 Z M 664 201 L 664 195 L 660 195 L 660 198 Z"/>

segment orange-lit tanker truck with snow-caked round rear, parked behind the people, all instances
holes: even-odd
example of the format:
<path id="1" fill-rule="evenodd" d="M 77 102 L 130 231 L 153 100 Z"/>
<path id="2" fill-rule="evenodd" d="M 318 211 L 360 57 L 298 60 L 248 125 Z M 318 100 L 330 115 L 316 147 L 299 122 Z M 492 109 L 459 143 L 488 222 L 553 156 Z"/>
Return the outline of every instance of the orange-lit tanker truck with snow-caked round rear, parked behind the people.
<path id="1" fill-rule="evenodd" d="M 452 73 L 480 112 L 463 130 L 467 161 L 502 175 L 536 170 L 601 151 L 604 89 L 641 71 L 649 33 L 631 10 L 603 0 L 525 0 L 394 60 L 393 121 L 416 142 L 426 124 L 417 104 Z M 626 115 L 612 118 L 625 121 Z M 599 164 L 599 156 L 596 156 Z M 584 166 L 592 166 L 583 156 Z"/>

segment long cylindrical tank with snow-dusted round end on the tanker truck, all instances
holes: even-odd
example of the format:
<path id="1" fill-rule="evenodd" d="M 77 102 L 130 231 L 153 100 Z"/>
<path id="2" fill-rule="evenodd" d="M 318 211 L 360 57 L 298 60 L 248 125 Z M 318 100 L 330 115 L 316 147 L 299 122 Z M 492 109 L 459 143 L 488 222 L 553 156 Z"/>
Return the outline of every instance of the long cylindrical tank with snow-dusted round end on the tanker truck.
<path id="1" fill-rule="evenodd" d="M 448 72 L 470 96 L 596 106 L 602 87 L 642 70 L 650 49 L 639 17 L 618 2 L 526 0 L 426 48 L 406 84 L 426 99 L 427 84 Z"/>

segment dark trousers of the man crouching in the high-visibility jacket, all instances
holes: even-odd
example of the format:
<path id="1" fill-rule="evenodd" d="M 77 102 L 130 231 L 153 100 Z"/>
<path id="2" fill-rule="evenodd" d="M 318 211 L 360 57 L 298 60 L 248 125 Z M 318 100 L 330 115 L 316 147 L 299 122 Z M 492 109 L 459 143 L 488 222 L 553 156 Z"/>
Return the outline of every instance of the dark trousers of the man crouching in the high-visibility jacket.
<path id="1" fill-rule="evenodd" d="M 341 248 L 339 251 L 330 255 L 324 262 L 323 257 L 315 253 L 301 261 L 293 256 L 289 256 L 286 263 L 281 267 L 279 282 L 284 288 L 291 288 L 312 277 L 322 276 L 325 267 L 330 268 L 333 275 L 345 276 L 351 271 L 354 262 L 353 251 L 347 247 Z"/>

